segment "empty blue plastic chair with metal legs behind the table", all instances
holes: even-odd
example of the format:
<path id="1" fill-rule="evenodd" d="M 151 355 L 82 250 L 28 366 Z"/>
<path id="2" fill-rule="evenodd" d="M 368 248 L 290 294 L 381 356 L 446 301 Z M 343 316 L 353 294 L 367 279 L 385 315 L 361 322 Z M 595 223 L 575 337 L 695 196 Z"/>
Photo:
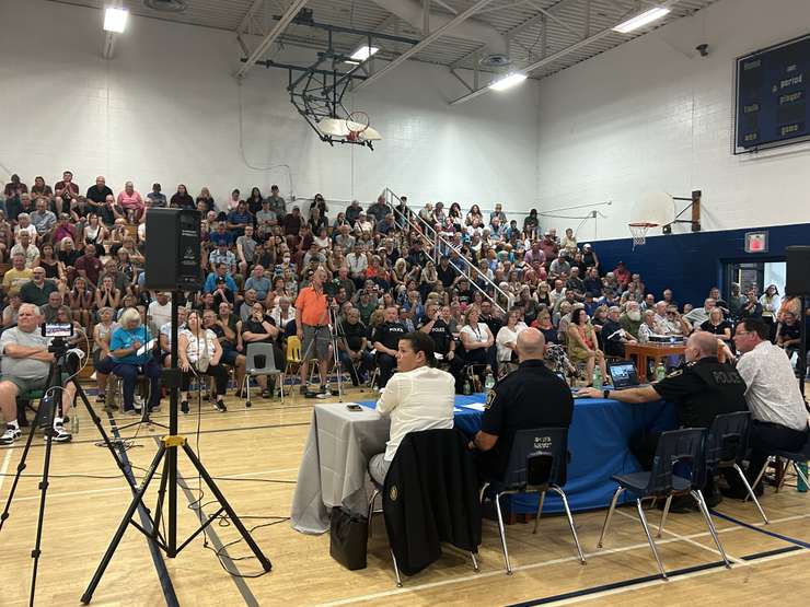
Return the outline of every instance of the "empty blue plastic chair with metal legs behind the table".
<path id="1" fill-rule="evenodd" d="M 611 506 L 608 510 L 608 515 L 602 526 L 602 533 L 599 536 L 599 548 L 602 548 L 604 542 L 608 527 L 611 523 L 611 516 L 613 511 L 616 509 L 618 498 L 624 491 L 630 491 L 636 494 L 636 510 L 638 511 L 638 518 L 644 527 L 644 533 L 647 535 L 647 541 L 650 545 L 652 555 L 656 557 L 658 563 L 658 570 L 661 572 L 661 577 L 667 580 L 667 572 L 661 563 L 661 557 L 658 555 L 658 548 L 650 534 L 650 528 L 647 525 L 647 517 L 644 514 L 641 507 L 641 500 L 646 498 L 658 498 L 666 499 L 667 502 L 663 506 L 663 513 L 661 515 L 661 524 L 663 527 L 667 522 L 667 514 L 669 513 L 670 503 L 673 495 L 691 495 L 697 506 L 701 509 L 706 525 L 708 526 L 709 533 L 717 545 L 717 549 L 720 551 L 724 562 L 727 568 L 731 568 L 731 564 L 726 557 L 726 551 L 722 549 L 720 538 L 717 537 L 717 530 L 715 525 L 711 523 L 711 516 L 709 515 L 706 501 L 703 498 L 701 487 L 703 487 L 706 464 L 704 462 L 704 444 L 706 439 L 706 430 L 701 428 L 687 428 L 684 430 L 673 430 L 671 432 L 663 432 L 658 441 L 658 447 L 656 450 L 656 457 L 652 460 L 652 470 L 648 472 L 632 472 L 629 475 L 617 475 L 611 477 L 618 483 L 616 492 L 613 494 Z M 675 474 L 675 465 L 679 464 L 679 472 L 682 468 L 690 469 L 690 477 L 684 478 Z"/>

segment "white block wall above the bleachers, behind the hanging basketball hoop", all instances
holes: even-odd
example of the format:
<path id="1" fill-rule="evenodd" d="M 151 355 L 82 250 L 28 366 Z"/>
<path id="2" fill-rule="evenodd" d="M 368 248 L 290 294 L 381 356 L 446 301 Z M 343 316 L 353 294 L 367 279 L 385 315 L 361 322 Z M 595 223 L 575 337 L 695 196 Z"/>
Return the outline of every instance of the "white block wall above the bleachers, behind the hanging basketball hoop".
<path id="1" fill-rule="evenodd" d="M 141 192 L 152 180 L 166 192 L 184 182 L 192 195 L 207 185 L 217 198 L 289 190 L 286 168 L 252 170 L 240 154 L 234 34 L 131 17 L 105 61 L 99 10 L 2 0 L 0 23 L 0 178 L 42 174 L 53 185 L 70 167 L 80 186 L 103 174 L 116 191 L 127 179 Z M 319 141 L 286 85 L 279 70 L 248 73 L 244 148 L 253 166 L 289 165 L 299 197 L 368 201 L 387 185 L 412 203 L 536 198 L 536 83 L 450 107 L 463 93 L 455 79 L 408 62 L 355 100 L 385 138 L 374 152 Z"/>

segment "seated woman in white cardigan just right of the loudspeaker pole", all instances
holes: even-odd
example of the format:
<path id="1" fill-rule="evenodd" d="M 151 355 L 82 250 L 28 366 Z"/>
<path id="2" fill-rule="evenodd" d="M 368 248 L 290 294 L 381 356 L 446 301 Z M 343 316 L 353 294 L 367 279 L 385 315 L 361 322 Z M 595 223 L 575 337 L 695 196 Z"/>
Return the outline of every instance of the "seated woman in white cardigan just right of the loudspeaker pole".
<path id="1" fill-rule="evenodd" d="M 216 384 L 215 407 L 220 413 L 228 410 L 223 400 L 228 389 L 228 371 L 224 364 L 220 364 L 222 347 L 219 345 L 217 335 L 202 327 L 200 315 L 196 311 L 188 313 L 186 328 L 177 336 L 177 355 L 180 357 L 180 369 L 183 371 L 183 389 L 186 397 L 181 402 L 181 410 L 188 412 L 188 387 L 192 376 L 209 375 Z"/>

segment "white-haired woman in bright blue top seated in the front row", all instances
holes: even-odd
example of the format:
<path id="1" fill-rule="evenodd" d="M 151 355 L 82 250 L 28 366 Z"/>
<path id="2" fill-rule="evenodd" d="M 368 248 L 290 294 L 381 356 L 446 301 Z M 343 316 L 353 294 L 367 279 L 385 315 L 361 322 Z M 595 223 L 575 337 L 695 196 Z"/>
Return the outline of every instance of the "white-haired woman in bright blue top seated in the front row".
<path id="1" fill-rule="evenodd" d="M 120 326 L 109 338 L 109 358 L 113 362 L 113 373 L 124 380 L 124 412 L 135 412 L 135 383 L 139 373 L 149 378 L 147 406 L 153 411 L 160 406 L 161 367 L 152 357 L 151 348 L 142 350 L 152 336 L 135 307 L 125 310 L 118 320 Z"/>

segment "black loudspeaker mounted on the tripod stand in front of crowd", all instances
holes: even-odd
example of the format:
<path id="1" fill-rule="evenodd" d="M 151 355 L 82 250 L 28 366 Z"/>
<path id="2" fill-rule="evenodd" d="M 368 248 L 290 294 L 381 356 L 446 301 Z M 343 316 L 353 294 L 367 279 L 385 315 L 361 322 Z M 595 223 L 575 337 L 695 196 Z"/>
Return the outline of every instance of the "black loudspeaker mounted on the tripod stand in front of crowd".
<path id="1" fill-rule="evenodd" d="M 200 212 L 193 209 L 147 211 L 147 289 L 196 291 L 200 288 Z"/>

